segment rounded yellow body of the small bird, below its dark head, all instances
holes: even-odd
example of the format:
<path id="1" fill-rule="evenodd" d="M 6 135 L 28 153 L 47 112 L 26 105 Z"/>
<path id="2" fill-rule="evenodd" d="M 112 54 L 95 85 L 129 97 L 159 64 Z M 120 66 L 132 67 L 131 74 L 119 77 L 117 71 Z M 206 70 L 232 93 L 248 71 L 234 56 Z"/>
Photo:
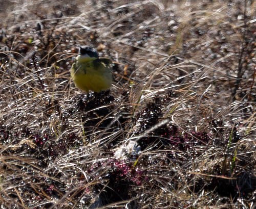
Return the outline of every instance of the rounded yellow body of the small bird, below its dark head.
<path id="1" fill-rule="evenodd" d="M 108 90 L 112 84 L 111 67 L 98 58 L 76 58 L 71 68 L 71 78 L 75 86 L 85 92 Z"/>

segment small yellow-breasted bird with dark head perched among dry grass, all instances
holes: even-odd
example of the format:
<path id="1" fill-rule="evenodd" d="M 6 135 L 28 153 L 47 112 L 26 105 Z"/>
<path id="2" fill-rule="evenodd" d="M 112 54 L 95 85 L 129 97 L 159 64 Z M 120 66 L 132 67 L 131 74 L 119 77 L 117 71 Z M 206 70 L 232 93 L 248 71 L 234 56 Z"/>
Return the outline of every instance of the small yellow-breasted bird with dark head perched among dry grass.
<path id="1" fill-rule="evenodd" d="M 80 90 L 99 93 L 111 88 L 112 60 L 100 58 L 91 46 L 79 46 L 79 53 L 71 67 L 71 79 Z"/>

